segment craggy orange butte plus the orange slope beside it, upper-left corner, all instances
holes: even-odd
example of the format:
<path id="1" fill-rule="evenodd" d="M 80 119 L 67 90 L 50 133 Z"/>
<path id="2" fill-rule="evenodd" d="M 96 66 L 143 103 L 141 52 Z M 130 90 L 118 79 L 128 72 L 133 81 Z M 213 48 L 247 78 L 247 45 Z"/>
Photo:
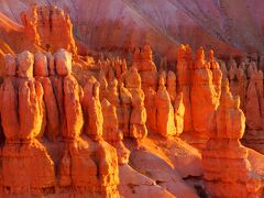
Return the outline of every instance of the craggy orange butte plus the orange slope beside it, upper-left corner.
<path id="1" fill-rule="evenodd" d="M 15 2 L 12 3 L 16 4 Z M 20 6 L 18 3 L 16 8 L 21 8 Z M 76 42 L 74 38 L 73 23 L 69 15 L 56 6 L 40 6 L 40 3 L 36 6 L 32 2 L 28 9 L 23 7 L 20 10 L 16 15 L 16 20 L 20 21 L 18 23 L 7 18 L 2 12 L 0 15 L 1 65 L 4 64 L 6 53 L 14 55 L 25 50 L 32 53 L 54 53 L 64 47 L 73 53 L 75 57 L 78 53 L 87 54 L 81 43 Z M 1 76 L 3 75 L 1 68 Z"/>

